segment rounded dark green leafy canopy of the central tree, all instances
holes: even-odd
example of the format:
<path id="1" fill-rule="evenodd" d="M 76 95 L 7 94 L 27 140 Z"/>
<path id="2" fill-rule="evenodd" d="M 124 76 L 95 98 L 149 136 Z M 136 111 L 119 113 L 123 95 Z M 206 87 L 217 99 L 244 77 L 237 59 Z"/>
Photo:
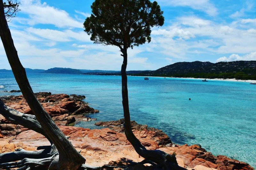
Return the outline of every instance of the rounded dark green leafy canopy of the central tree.
<path id="1" fill-rule="evenodd" d="M 164 24 L 163 11 L 156 1 L 95 0 L 84 31 L 97 44 L 133 48 L 150 42 L 151 27 Z"/>

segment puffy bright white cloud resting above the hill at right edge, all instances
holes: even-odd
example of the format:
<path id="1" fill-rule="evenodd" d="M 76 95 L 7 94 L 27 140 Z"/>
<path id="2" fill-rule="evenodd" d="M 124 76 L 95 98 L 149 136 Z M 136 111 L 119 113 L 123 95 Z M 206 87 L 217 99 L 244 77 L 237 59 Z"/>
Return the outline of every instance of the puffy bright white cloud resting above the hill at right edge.
<path id="1" fill-rule="evenodd" d="M 229 62 L 229 61 L 251 61 L 251 60 L 256 60 L 256 52 L 252 52 L 250 54 L 246 54 L 243 56 L 239 56 L 237 54 L 232 54 L 229 57 L 220 57 L 216 60 L 216 62 Z"/>

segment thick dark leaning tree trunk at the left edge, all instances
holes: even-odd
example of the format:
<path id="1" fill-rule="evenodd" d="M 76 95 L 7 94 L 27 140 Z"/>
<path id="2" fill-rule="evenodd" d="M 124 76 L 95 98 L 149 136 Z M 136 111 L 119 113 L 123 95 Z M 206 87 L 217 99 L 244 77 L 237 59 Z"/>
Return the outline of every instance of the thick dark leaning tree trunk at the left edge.
<path id="1" fill-rule="evenodd" d="M 0 36 L 4 49 L 11 65 L 14 77 L 20 87 L 20 91 L 27 100 L 28 106 L 36 116 L 36 119 L 38 122 L 40 122 L 44 133 L 47 134 L 59 151 L 58 162 L 51 165 L 50 168 L 78 169 L 85 162 L 85 159 L 76 151 L 73 145 L 68 141 L 65 135 L 60 131 L 60 129 L 56 126 L 51 117 L 36 99 L 36 96 L 34 95 L 28 82 L 25 69 L 21 65 L 18 53 L 14 47 L 12 35 L 4 16 L 4 5 L 2 0 L 0 0 L 0 28 Z"/>

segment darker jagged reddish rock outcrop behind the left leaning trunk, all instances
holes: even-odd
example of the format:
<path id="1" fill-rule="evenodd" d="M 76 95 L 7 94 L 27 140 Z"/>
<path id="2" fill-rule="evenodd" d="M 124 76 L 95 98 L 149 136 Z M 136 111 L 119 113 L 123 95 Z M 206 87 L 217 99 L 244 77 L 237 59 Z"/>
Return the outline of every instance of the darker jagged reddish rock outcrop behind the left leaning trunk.
<path id="1" fill-rule="evenodd" d="M 99 110 L 89 107 L 88 103 L 82 101 L 85 96 L 75 94 L 70 96 L 67 94 L 51 94 L 51 92 L 38 92 L 35 93 L 35 95 L 56 123 L 68 125 L 73 122 L 86 121 L 86 118 L 83 116 L 84 114 L 99 112 Z M 5 96 L 1 97 L 1 100 L 3 100 L 6 106 L 12 109 L 21 113 L 33 115 L 22 95 Z M 20 132 L 27 130 L 21 125 L 7 121 L 2 115 L 0 115 L 0 129 L 2 130 L 1 134 L 4 136 L 17 135 Z"/>

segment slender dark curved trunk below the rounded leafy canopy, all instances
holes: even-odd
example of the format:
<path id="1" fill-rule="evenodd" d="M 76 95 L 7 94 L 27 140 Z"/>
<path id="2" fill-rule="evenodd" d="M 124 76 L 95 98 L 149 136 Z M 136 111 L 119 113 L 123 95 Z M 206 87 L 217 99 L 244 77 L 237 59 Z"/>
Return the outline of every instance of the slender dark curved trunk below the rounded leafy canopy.
<path id="1" fill-rule="evenodd" d="M 185 170 L 178 166 L 175 156 L 169 155 L 160 150 L 147 150 L 140 141 L 134 136 L 131 128 L 131 119 L 129 111 L 129 101 L 128 101 L 128 88 L 127 88 L 127 75 L 126 75 L 126 66 L 127 66 L 127 48 L 120 48 L 123 53 L 124 61 L 121 68 L 122 76 L 122 98 L 123 98 L 123 109 L 124 109 L 124 133 L 127 140 L 132 144 L 135 151 L 142 156 L 143 158 L 150 160 L 158 165 L 161 165 L 163 169 L 175 169 L 175 170 Z"/>

